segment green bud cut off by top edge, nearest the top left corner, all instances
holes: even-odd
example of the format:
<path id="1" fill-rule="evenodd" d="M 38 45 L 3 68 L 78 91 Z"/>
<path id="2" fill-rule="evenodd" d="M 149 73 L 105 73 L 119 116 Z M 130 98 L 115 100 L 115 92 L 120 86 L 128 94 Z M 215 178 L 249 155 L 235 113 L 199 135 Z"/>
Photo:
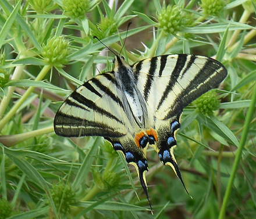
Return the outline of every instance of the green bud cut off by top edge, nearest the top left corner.
<path id="1" fill-rule="evenodd" d="M 57 4 L 52 0 L 30 0 L 29 4 L 37 13 L 48 13 L 57 8 Z"/>

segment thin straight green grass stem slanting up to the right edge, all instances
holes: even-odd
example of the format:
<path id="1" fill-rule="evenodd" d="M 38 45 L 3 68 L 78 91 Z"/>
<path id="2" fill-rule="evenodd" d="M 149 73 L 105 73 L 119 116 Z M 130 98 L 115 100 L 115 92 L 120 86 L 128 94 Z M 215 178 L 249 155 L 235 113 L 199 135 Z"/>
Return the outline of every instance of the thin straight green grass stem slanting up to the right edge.
<path id="1" fill-rule="evenodd" d="M 250 105 L 250 107 L 248 109 L 248 112 L 247 112 L 244 129 L 243 129 L 243 132 L 241 134 L 239 148 L 237 149 L 236 157 L 234 159 L 234 165 L 232 167 L 232 171 L 231 171 L 231 174 L 230 174 L 229 183 L 227 184 L 227 189 L 226 189 L 225 196 L 224 196 L 224 199 L 223 199 L 221 212 L 219 214 L 219 219 L 224 219 L 225 218 L 227 202 L 230 199 L 230 193 L 231 193 L 231 190 L 232 190 L 232 187 L 233 187 L 234 177 L 236 176 L 236 171 L 237 171 L 237 168 L 239 166 L 239 161 L 240 161 L 240 158 L 241 158 L 241 155 L 242 155 L 242 152 L 243 152 L 243 148 L 244 148 L 244 145 L 246 144 L 247 135 L 248 135 L 249 128 L 250 128 L 250 123 L 251 123 L 251 120 L 253 119 L 255 103 L 256 103 L 256 84 L 254 85 L 253 96 L 251 98 L 251 105 Z"/>

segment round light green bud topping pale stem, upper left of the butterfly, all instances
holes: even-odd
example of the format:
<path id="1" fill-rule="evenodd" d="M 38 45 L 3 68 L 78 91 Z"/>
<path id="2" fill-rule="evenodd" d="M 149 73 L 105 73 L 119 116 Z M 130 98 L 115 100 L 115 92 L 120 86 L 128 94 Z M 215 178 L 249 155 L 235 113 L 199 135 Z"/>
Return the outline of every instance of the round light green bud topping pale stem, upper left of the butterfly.
<path id="1" fill-rule="evenodd" d="M 69 41 L 63 36 L 48 39 L 47 44 L 42 47 L 42 56 L 47 64 L 61 67 L 67 63 L 66 56 L 69 55 Z"/>

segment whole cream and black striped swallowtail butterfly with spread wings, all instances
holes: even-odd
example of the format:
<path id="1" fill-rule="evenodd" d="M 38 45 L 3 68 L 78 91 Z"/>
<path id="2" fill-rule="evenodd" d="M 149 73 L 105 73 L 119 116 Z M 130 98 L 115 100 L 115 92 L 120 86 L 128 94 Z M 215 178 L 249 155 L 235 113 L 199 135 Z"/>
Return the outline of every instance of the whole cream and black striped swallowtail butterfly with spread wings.
<path id="1" fill-rule="evenodd" d="M 136 167 L 151 207 L 145 180 L 148 146 L 186 189 L 173 153 L 180 116 L 184 107 L 222 82 L 227 70 L 212 58 L 187 54 L 132 65 L 115 55 L 113 63 L 112 71 L 86 81 L 62 103 L 54 130 L 63 137 L 101 136 L 111 142 Z"/>

